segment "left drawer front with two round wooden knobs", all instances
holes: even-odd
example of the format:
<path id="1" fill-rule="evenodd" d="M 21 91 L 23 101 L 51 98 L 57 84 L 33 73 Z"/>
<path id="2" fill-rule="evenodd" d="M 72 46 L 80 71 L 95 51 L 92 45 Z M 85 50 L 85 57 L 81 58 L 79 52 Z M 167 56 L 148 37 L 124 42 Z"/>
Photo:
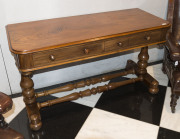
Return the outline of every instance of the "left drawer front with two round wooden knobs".
<path id="1" fill-rule="evenodd" d="M 33 54 L 34 67 L 48 66 L 75 59 L 91 57 L 103 51 L 101 42 L 37 52 Z"/>

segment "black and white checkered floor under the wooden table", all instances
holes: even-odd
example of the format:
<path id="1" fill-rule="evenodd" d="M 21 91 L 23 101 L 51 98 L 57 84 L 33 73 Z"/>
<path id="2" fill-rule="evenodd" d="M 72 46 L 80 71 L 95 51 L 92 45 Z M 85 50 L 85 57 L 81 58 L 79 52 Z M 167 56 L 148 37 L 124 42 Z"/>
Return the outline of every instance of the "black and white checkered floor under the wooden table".
<path id="1" fill-rule="evenodd" d="M 13 109 L 5 115 L 6 121 L 25 139 L 179 139 L 180 100 L 176 113 L 172 114 L 169 106 L 171 87 L 167 76 L 161 71 L 161 64 L 149 66 L 148 72 L 160 83 L 157 95 L 149 94 L 146 86 L 138 82 L 43 108 L 43 127 L 38 132 L 29 129 L 23 99 L 16 97 L 13 99 Z M 59 93 L 49 98 L 69 93 Z"/>

